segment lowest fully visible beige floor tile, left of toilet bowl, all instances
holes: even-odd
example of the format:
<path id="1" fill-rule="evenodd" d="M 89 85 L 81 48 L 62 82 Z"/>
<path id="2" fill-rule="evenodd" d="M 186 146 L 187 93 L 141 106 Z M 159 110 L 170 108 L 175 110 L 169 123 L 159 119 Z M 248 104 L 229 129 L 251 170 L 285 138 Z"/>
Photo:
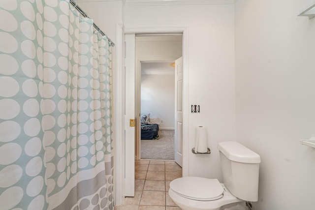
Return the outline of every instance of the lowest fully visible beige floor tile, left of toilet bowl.
<path id="1" fill-rule="evenodd" d="M 140 205 L 165 206 L 165 192 L 143 191 Z"/>

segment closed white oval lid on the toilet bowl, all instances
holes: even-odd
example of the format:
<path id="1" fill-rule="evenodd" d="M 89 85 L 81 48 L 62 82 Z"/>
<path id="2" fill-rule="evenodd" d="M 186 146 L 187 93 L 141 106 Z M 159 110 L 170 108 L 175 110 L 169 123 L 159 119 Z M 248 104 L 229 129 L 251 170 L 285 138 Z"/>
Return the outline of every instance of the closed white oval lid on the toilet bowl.
<path id="1" fill-rule="evenodd" d="M 177 194 L 198 201 L 213 201 L 223 197 L 223 187 L 217 179 L 182 177 L 170 182 L 169 187 Z"/>

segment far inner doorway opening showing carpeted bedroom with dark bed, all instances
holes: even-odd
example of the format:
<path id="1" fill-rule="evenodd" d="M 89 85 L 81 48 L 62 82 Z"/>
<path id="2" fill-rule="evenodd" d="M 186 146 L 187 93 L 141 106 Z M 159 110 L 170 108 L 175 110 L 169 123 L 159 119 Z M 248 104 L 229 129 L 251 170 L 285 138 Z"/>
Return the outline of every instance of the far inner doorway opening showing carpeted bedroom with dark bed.
<path id="1" fill-rule="evenodd" d="M 141 159 L 174 160 L 174 62 L 141 62 L 140 110 Z"/>

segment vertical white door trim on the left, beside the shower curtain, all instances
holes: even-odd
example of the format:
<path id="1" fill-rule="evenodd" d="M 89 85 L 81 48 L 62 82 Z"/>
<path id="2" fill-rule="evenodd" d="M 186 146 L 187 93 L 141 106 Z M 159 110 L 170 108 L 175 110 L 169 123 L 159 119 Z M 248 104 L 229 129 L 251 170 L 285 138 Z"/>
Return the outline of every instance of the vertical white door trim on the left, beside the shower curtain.
<path id="1" fill-rule="evenodd" d="M 116 25 L 116 69 L 113 70 L 114 119 L 114 205 L 123 204 L 125 197 L 125 145 L 124 145 L 124 77 L 123 77 L 123 24 Z"/>

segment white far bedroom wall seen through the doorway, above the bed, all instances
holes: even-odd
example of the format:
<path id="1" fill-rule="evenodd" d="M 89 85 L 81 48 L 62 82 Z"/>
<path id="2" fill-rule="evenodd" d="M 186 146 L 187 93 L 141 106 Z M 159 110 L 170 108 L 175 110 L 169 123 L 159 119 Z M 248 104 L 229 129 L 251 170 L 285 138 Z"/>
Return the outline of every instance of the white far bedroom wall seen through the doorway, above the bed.
<path id="1" fill-rule="evenodd" d="M 175 70 L 174 70 L 175 71 Z M 174 129 L 175 75 L 141 75 L 141 113 L 162 120 L 160 129 Z"/>

